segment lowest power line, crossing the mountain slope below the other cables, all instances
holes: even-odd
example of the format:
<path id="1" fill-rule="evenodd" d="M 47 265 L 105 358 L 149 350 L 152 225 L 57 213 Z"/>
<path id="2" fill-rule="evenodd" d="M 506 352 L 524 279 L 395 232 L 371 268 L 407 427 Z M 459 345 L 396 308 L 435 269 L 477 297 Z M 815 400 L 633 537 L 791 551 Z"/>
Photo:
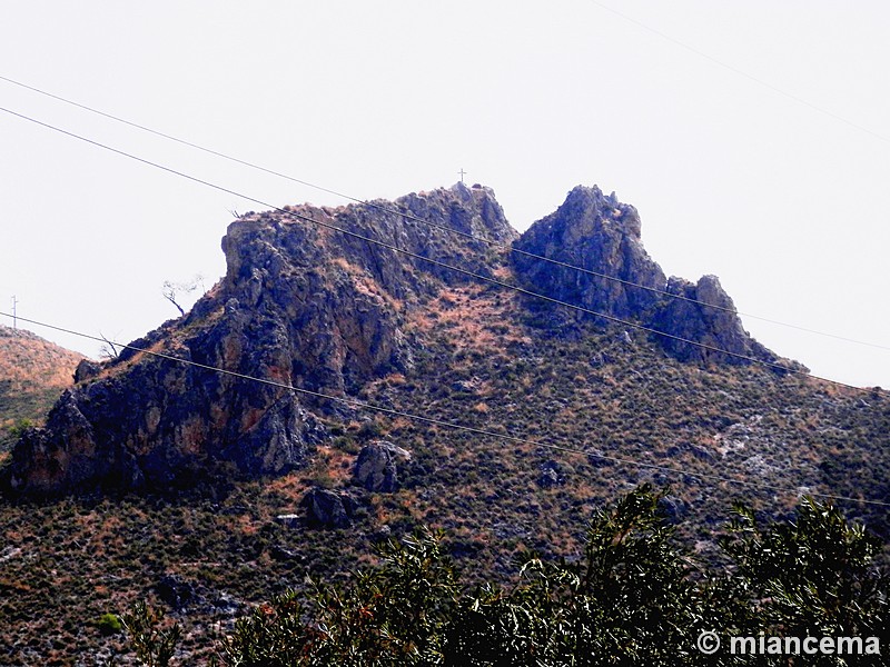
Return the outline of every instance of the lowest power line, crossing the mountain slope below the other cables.
<path id="1" fill-rule="evenodd" d="M 2 317 L 12 317 L 10 313 L 2 312 L 2 311 L 0 311 L 0 316 L 2 316 Z M 477 436 L 487 436 L 487 437 L 491 437 L 491 438 L 497 438 L 497 439 L 506 440 L 506 441 L 514 442 L 514 444 L 517 444 L 517 445 L 531 445 L 533 447 L 541 447 L 543 449 L 551 449 L 551 450 L 554 450 L 554 451 L 562 451 L 562 452 L 566 452 L 566 454 L 578 454 L 578 455 L 583 455 L 583 456 L 585 456 L 587 458 L 593 457 L 593 458 L 611 461 L 611 462 L 614 462 L 614 464 L 620 464 L 620 465 L 624 465 L 624 466 L 632 466 L 632 467 L 635 467 L 635 468 L 645 468 L 647 470 L 655 470 L 655 471 L 659 471 L 659 472 L 665 472 L 665 474 L 670 474 L 670 475 L 679 475 L 681 477 L 693 477 L 693 478 L 699 479 L 699 480 L 704 481 L 704 482 L 709 482 L 709 481 L 712 482 L 712 484 L 713 482 L 726 482 L 726 484 L 746 486 L 746 487 L 751 487 L 751 488 L 759 488 L 759 489 L 764 489 L 764 490 L 780 491 L 780 492 L 784 492 L 784 494 L 793 494 L 793 495 L 798 495 L 799 494 L 798 489 L 790 489 L 788 487 L 781 487 L 781 486 L 778 486 L 778 485 L 763 484 L 763 482 L 759 482 L 759 481 L 752 481 L 750 479 L 733 479 L 731 477 L 724 477 L 724 476 L 721 476 L 721 475 L 713 475 L 713 474 L 708 474 L 708 472 L 689 472 L 686 470 L 680 470 L 678 468 L 672 468 L 670 466 L 659 466 L 656 464 L 646 464 L 644 461 L 637 461 L 637 460 L 634 460 L 634 459 L 625 459 L 625 458 L 615 457 L 615 456 L 611 456 L 611 455 L 606 455 L 606 454 L 602 454 L 602 452 L 597 452 L 597 451 L 591 451 L 591 450 L 587 450 L 587 449 L 580 449 L 578 447 L 570 447 L 570 446 L 563 446 L 563 445 L 552 445 L 552 444 L 548 444 L 548 442 L 543 442 L 541 440 L 533 440 L 531 438 L 522 438 L 522 437 L 518 437 L 518 436 L 511 436 L 511 435 L 507 435 L 507 434 L 500 434 L 500 432 L 496 432 L 496 431 L 493 431 L 493 430 L 483 429 L 483 428 L 476 428 L 476 427 L 473 427 L 473 426 L 466 426 L 464 424 L 458 424 L 458 422 L 455 422 L 455 421 L 446 421 L 444 419 L 436 419 L 434 417 L 424 417 L 422 415 L 414 415 L 412 412 L 405 412 L 405 411 L 396 410 L 396 409 L 393 409 L 393 408 L 386 408 L 384 406 L 378 406 L 378 405 L 375 405 L 375 404 L 369 404 L 369 402 L 360 401 L 360 400 L 353 399 L 353 398 L 346 398 L 346 397 L 343 397 L 343 396 L 334 396 L 332 394 L 326 394 L 324 391 L 314 391 L 312 389 L 305 389 L 303 387 L 294 387 L 293 385 L 286 385 L 284 382 L 278 382 L 278 381 L 269 380 L 269 379 L 266 379 L 266 378 L 258 378 L 256 376 L 250 376 L 250 375 L 247 375 L 247 374 L 237 372 L 237 371 L 228 370 L 228 369 L 225 369 L 225 368 L 219 368 L 219 367 L 216 367 L 216 366 L 210 366 L 210 365 L 207 365 L 207 364 L 200 364 L 198 361 L 192 361 L 191 359 L 182 359 L 182 358 L 179 358 L 179 357 L 174 357 L 172 355 L 166 355 L 164 352 L 158 352 L 158 351 L 149 350 L 149 349 L 146 349 L 146 348 L 139 348 L 139 347 L 135 347 L 135 346 L 131 346 L 131 345 L 126 345 L 126 344 L 122 344 L 122 342 L 111 341 L 111 340 L 108 340 L 106 338 L 99 338 L 97 336 L 90 336 L 89 334 L 83 334 L 82 331 L 76 331 L 73 329 L 68 329 L 68 328 L 65 328 L 65 327 L 59 327 L 59 326 L 56 326 L 56 325 L 50 325 L 50 323 L 38 321 L 38 320 L 32 320 L 32 319 L 28 319 L 28 318 L 23 318 L 23 317 L 19 317 L 19 320 L 23 321 L 23 322 L 28 322 L 30 325 L 38 326 L 38 327 L 46 327 L 46 328 L 52 329 L 55 331 L 60 331 L 60 332 L 63 332 L 63 334 L 69 334 L 69 335 L 78 336 L 78 337 L 81 337 L 81 338 L 87 338 L 89 340 L 95 340 L 97 342 L 111 344 L 111 345 L 113 345 L 116 347 L 119 347 L 121 349 L 132 350 L 135 352 L 141 352 L 144 355 L 149 355 L 151 357 L 156 357 L 158 359 L 164 359 L 166 361 L 172 361 L 175 364 L 184 364 L 186 366 L 191 366 L 194 368 L 200 368 L 201 370 L 208 370 L 208 371 L 211 371 L 211 372 L 218 372 L 220 375 L 235 377 L 235 378 L 238 378 L 238 379 L 241 379 L 241 380 L 259 382 L 259 384 L 263 384 L 263 385 L 267 385 L 269 387 L 276 387 L 276 388 L 279 388 L 279 389 L 286 389 L 288 391 L 295 391 L 295 392 L 303 394 L 303 395 L 306 395 L 306 396 L 312 396 L 314 398 L 322 398 L 322 399 L 325 399 L 325 400 L 330 400 L 330 401 L 334 401 L 334 402 L 339 402 L 339 404 L 348 405 L 348 406 L 360 408 L 360 409 L 373 410 L 373 411 L 376 411 L 376 412 L 382 412 L 382 414 L 388 415 L 390 417 L 403 417 L 405 419 L 409 419 L 409 420 L 414 420 L 414 421 L 422 421 L 424 424 L 428 424 L 428 425 L 432 425 L 432 426 L 441 426 L 441 427 L 449 428 L 449 429 L 453 429 L 453 430 L 459 430 L 459 431 L 463 431 L 463 432 L 474 434 L 474 435 L 477 435 Z M 554 436 L 551 436 L 551 439 L 560 441 L 560 442 L 570 442 L 570 444 L 573 442 L 573 440 L 570 440 L 567 438 L 561 438 L 561 437 L 554 437 Z M 853 498 L 853 497 L 848 497 L 848 496 L 838 496 L 838 495 L 834 495 L 834 494 L 823 494 L 823 492 L 817 492 L 817 491 L 808 491 L 808 494 L 810 496 L 813 496 L 813 497 L 827 498 L 827 499 L 830 499 L 830 500 L 842 500 L 842 501 L 849 501 L 849 502 L 860 502 L 860 504 L 864 504 L 864 505 L 876 505 L 876 506 L 880 506 L 880 507 L 890 507 L 890 502 L 886 502 L 886 501 L 882 501 L 882 500 L 870 500 L 870 499 L 863 499 L 863 498 Z"/>

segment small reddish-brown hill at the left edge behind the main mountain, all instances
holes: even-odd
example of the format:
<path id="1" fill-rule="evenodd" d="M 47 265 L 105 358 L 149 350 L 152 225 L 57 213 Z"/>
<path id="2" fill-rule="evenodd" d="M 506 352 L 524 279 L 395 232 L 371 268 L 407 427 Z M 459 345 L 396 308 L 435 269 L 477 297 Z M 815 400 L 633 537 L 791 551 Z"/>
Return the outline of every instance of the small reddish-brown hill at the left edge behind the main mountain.
<path id="1" fill-rule="evenodd" d="M 40 424 L 83 359 L 26 330 L 0 325 L 0 451 L 24 425 Z"/>

